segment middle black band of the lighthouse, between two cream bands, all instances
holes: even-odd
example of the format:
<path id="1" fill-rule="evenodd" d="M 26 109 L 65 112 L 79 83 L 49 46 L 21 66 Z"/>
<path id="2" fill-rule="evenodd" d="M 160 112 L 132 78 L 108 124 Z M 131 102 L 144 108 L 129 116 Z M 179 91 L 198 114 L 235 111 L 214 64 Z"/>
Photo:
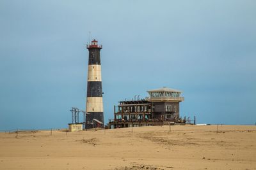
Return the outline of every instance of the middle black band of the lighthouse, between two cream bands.
<path id="1" fill-rule="evenodd" d="M 102 97 L 102 83 L 101 83 L 101 81 L 88 81 L 88 83 L 87 83 L 87 97 Z"/>

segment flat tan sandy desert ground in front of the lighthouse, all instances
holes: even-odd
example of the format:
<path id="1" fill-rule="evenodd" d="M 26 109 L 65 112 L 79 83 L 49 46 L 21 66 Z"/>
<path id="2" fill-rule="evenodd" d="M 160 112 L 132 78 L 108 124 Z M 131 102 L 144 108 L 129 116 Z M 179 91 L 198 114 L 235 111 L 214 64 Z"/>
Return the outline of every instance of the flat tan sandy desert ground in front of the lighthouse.
<path id="1" fill-rule="evenodd" d="M 256 169 L 256 125 L 0 133 L 0 169 Z"/>

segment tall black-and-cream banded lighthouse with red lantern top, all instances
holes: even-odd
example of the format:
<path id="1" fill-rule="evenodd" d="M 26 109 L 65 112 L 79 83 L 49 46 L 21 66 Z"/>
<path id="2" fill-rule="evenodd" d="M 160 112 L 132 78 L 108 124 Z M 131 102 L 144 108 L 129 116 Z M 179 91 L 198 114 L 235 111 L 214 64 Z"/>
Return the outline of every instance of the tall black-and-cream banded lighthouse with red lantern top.
<path id="1" fill-rule="evenodd" d="M 89 60 L 86 98 L 86 128 L 104 126 L 100 66 L 101 48 L 102 45 L 98 45 L 98 41 L 95 39 L 87 45 L 87 49 L 89 50 Z"/>

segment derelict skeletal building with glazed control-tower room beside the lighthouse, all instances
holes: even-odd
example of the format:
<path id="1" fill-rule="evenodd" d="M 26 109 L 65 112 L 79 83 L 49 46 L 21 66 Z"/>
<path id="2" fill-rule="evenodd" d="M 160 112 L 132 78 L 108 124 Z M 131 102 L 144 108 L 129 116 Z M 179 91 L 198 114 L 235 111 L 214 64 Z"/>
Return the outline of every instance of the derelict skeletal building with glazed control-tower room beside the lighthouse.
<path id="1" fill-rule="evenodd" d="M 114 106 L 114 119 L 109 128 L 138 127 L 148 125 L 185 124 L 180 118 L 179 103 L 184 101 L 182 91 L 163 87 L 148 90 L 149 97 L 134 97 L 130 101 L 119 101 Z"/>

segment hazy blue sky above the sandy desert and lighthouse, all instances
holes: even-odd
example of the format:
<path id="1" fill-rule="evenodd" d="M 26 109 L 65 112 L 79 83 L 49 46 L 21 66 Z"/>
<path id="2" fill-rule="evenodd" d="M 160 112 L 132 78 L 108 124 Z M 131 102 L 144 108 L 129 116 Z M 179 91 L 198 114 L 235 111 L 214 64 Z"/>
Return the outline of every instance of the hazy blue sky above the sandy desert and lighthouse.
<path id="1" fill-rule="evenodd" d="M 104 121 L 147 90 L 182 90 L 198 124 L 256 122 L 256 1 L 0 1 L 0 130 L 67 128 L 85 110 L 91 37 Z M 81 119 L 82 121 L 82 119 Z"/>

